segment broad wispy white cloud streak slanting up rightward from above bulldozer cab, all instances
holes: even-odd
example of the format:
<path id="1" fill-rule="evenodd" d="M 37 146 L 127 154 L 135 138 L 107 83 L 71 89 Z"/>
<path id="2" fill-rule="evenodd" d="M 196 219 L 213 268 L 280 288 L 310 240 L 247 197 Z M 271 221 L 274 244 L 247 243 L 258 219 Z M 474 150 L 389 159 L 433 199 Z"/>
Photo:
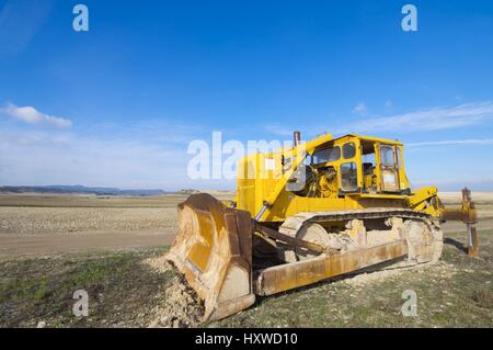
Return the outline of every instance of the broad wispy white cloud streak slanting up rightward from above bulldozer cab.
<path id="1" fill-rule="evenodd" d="M 434 108 L 388 117 L 372 117 L 341 127 L 340 133 L 427 132 L 478 124 L 493 117 L 493 102 Z"/>

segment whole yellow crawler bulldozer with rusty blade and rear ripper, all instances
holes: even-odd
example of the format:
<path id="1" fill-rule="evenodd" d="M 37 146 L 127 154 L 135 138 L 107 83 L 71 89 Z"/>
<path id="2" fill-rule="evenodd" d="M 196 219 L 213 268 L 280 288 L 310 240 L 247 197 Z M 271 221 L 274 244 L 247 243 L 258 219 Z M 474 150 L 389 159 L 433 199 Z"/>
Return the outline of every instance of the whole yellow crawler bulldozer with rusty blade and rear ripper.
<path id="1" fill-rule="evenodd" d="M 433 263 L 440 223 L 462 221 L 478 253 L 470 191 L 445 208 L 435 187 L 412 190 L 397 140 L 324 134 L 249 155 L 237 195 L 207 193 L 179 205 L 180 230 L 165 258 L 203 301 L 204 320 L 227 317 L 256 295 L 309 285 L 362 269 Z"/>

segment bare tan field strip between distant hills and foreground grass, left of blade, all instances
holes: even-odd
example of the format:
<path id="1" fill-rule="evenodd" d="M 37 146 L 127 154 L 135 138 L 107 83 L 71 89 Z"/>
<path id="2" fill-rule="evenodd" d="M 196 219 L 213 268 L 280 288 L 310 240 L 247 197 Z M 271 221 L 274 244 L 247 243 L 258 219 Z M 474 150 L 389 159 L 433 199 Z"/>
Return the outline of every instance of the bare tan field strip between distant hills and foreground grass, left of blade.
<path id="1" fill-rule="evenodd" d="M 0 259 L 167 246 L 186 196 L 0 194 Z"/>

